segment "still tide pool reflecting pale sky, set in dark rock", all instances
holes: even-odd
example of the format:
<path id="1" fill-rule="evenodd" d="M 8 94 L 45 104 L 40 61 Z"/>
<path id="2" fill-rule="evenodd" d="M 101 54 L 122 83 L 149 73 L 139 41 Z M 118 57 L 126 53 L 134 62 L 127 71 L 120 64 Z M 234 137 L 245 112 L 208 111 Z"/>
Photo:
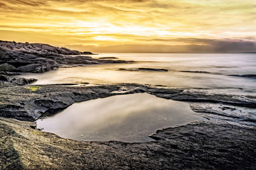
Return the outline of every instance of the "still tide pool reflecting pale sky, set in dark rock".
<path id="1" fill-rule="evenodd" d="M 129 94 L 75 103 L 37 125 L 73 140 L 148 142 L 157 129 L 199 119 L 188 103 Z"/>

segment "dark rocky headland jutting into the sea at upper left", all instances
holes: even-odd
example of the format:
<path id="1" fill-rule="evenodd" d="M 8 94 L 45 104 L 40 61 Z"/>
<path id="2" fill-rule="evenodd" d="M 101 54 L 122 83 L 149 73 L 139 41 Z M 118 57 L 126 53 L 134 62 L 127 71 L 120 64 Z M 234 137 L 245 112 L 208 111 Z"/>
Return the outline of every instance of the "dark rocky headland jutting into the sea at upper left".
<path id="1" fill-rule="evenodd" d="M 41 43 L 0 41 L 0 72 L 48 72 L 61 64 L 129 63 L 83 56 L 92 54 Z"/>

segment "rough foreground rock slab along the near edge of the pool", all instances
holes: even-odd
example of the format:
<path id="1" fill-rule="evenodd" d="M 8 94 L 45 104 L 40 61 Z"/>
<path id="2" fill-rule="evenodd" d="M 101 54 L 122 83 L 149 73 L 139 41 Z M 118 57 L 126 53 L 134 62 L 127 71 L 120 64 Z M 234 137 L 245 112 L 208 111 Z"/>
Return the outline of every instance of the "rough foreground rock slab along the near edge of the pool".
<path id="1" fill-rule="evenodd" d="M 78 142 L 0 118 L 0 169 L 255 169 L 256 130 L 191 123 L 146 143 Z M 33 155 L 33 156 L 32 156 Z"/>

